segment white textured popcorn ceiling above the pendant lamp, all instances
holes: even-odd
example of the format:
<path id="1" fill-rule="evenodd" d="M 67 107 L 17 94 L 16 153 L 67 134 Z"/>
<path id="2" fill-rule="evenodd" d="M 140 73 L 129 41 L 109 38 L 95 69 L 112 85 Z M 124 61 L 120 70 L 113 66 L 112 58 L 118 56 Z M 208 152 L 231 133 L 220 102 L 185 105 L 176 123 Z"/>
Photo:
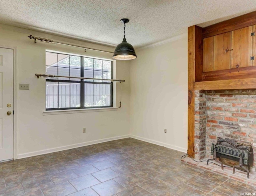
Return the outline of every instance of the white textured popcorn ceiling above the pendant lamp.
<path id="1" fill-rule="evenodd" d="M 135 48 L 256 10 L 254 0 L 0 0 L 0 23 Z"/>

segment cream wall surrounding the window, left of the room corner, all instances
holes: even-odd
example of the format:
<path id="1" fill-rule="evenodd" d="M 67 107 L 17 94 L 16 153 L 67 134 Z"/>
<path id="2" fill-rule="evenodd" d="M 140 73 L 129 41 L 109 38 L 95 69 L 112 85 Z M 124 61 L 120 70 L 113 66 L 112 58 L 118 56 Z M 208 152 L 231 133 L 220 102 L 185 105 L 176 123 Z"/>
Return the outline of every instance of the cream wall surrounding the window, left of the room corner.
<path id="1" fill-rule="evenodd" d="M 0 25 L 0 45 L 17 49 L 16 85 L 30 84 L 30 90 L 17 89 L 17 154 L 18 158 L 43 154 L 64 148 L 74 148 L 94 140 L 126 136 L 129 134 L 130 116 L 130 65 L 116 62 L 116 78 L 126 82 L 122 88 L 122 108 L 117 111 L 86 112 L 43 116 L 45 110 L 45 79 L 37 79 L 35 73 L 45 73 L 45 50 L 55 50 L 87 56 L 112 59 L 112 54 L 82 48 L 46 44 L 34 44 L 27 36 L 46 37 L 62 42 L 79 44 L 102 50 L 114 50 L 107 46 L 72 40 L 51 34 Z M 117 103 L 120 83 L 117 84 Z M 86 133 L 82 128 L 86 127 Z"/>

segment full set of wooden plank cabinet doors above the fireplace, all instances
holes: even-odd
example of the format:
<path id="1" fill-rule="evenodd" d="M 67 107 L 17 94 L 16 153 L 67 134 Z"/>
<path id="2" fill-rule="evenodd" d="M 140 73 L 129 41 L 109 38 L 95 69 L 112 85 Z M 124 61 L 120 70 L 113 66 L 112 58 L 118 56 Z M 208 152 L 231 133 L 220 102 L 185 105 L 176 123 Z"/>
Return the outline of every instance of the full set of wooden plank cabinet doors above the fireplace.
<path id="1" fill-rule="evenodd" d="M 255 26 L 204 38 L 203 72 L 255 66 Z"/>

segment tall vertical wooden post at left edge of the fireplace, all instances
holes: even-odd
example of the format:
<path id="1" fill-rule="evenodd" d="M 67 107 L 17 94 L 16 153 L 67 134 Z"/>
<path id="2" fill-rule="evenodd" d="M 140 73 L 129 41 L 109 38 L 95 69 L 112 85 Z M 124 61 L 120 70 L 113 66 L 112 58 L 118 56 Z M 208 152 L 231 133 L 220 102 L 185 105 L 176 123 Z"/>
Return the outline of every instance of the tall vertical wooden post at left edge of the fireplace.
<path id="1" fill-rule="evenodd" d="M 195 100 L 194 82 L 202 81 L 203 72 L 203 39 L 202 28 L 188 28 L 188 154 L 194 157 L 194 123 Z"/>

